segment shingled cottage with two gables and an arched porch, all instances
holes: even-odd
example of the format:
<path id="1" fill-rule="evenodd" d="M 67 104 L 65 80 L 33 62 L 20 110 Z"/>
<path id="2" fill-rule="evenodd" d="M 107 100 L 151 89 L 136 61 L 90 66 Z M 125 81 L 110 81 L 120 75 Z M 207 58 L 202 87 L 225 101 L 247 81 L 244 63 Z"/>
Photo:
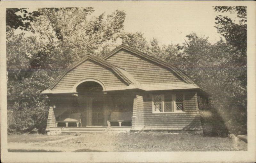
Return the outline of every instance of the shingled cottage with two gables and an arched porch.
<path id="1" fill-rule="evenodd" d="M 197 99 L 208 97 L 175 66 L 125 45 L 73 63 L 42 94 L 51 101 L 49 133 L 202 132 Z"/>

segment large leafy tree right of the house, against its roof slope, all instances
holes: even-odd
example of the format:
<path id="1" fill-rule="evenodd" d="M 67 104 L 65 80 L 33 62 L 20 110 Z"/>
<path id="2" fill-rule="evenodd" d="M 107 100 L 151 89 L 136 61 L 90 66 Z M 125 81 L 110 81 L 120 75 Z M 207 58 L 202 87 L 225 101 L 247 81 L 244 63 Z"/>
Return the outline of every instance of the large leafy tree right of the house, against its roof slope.
<path id="1" fill-rule="evenodd" d="M 239 57 L 235 47 L 222 40 L 211 44 L 207 37 L 199 38 L 195 33 L 187 38 L 181 58 L 174 60 L 176 65 L 211 93 L 212 105 L 230 132 L 246 132 L 246 67 L 233 64 Z"/>

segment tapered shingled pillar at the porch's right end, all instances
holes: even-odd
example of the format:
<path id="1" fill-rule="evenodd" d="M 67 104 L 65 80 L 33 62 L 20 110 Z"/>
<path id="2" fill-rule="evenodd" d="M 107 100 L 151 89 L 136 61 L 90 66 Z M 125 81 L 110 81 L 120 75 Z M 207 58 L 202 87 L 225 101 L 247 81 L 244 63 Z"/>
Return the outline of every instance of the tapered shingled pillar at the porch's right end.
<path id="1" fill-rule="evenodd" d="M 141 130 L 144 127 L 144 101 L 143 97 L 136 95 L 133 99 L 132 130 Z"/>

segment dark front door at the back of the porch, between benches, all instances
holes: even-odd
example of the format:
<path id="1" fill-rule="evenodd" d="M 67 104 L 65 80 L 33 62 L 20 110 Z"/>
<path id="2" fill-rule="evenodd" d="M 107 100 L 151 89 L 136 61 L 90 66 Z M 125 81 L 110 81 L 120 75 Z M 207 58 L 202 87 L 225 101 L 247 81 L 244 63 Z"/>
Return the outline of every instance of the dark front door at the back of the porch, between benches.
<path id="1" fill-rule="evenodd" d="M 92 125 L 103 125 L 103 100 L 102 98 L 95 98 L 92 100 Z"/>

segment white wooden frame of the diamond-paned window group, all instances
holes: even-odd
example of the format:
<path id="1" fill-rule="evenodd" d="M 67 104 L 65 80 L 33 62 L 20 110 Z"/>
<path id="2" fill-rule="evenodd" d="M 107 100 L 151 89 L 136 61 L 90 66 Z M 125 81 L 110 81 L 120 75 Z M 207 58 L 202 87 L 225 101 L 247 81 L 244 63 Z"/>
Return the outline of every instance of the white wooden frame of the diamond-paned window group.
<path id="1" fill-rule="evenodd" d="M 183 95 L 183 111 L 177 110 L 176 107 L 176 94 L 182 94 Z M 160 95 L 161 96 L 161 105 L 162 105 L 162 112 L 155 111 L 155 96 Z M 152 95 L 152 114 L 175 114 L 175 113 L 186 113 L 185 109 L 185 93 L 171 93 L 171 103 L 172 103 L 172 110 L 173 112 L 165 112 L 165 101 L 164 101 L 165 94 L 153 94 Z"/>

